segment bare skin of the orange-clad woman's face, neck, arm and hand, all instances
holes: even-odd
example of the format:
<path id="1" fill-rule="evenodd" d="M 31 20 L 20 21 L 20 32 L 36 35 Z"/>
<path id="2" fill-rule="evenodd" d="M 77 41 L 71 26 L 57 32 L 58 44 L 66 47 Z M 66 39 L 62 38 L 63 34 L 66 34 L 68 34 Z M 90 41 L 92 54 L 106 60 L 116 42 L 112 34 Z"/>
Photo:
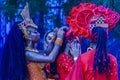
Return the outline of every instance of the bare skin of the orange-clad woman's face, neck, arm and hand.
<path id="1" fill-rule="evenodd" d="M 63 30 L 65 27 L 61 27 L 57 32 L 57 38 L 63 39 L 65 31 Z M 37 30 L 33 27 L 27 28 L 28 35 L 25 36 L 25 39 L 27 41 L 27 47 L 34 49 L 35 43 L 39 40 L 40 34 L 37 32 Z M 48 48 L 49 49 L 49 48 Z M 50 51 L 49 55 L 43 55 L 46 53 L 36 53 L 33 51 L 26 50 L 26 59 L 28 61 L 34 61 L 34 62 L 53 62 L 55 60 L 55 57 L 57 56 L 60 49 L 60 45 L 55 44 L 52 50 Z"/>

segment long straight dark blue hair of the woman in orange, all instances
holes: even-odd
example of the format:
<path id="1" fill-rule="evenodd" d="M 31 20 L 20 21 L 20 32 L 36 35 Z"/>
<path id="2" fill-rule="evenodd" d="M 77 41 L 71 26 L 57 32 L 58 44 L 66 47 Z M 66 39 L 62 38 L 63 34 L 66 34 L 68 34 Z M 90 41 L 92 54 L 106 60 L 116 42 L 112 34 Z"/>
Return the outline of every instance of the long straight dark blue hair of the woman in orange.
<path id="1" fill-rule="evenodd" d="M 28 75 L 25 60 L 25 39 L 16 22 L 6 39 L 0 65 L 1 80 L 25 80 Z"/>

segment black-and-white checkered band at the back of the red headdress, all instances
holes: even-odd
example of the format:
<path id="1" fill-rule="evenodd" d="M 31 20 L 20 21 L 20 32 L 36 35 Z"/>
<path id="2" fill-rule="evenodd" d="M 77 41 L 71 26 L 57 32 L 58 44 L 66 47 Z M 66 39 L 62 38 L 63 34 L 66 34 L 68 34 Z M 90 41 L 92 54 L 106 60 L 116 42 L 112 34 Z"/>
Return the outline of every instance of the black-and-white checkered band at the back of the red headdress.
<path id="1" fill-rule="evenodd" d="M 108 23 L 103 16 L 93 16 L 90 20 L 90 29 L 92 30 L 94 27 L 104 27 L 108 28 Z"/>

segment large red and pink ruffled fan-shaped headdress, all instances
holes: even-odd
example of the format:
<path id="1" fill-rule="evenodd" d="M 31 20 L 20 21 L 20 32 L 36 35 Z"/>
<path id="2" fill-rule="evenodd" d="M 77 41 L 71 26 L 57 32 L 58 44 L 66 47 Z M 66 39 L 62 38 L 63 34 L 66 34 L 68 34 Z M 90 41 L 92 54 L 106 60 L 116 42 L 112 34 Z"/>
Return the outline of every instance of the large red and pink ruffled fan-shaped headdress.
<path id="1" fill-rule="evenodd" d="M 73 7 L 69 14 L 70 16 L 66 18 L 70 27 L 67 34 L 72 33 L 75 36 L 83 37 L 90 37 L 90 24 L 93 17 L 96 18 L 95 22 L 99 19 L 104 20 L 109 29 L 114 28 L 120 18 L 117 12 L 91 3 L 81 3 Z"/>

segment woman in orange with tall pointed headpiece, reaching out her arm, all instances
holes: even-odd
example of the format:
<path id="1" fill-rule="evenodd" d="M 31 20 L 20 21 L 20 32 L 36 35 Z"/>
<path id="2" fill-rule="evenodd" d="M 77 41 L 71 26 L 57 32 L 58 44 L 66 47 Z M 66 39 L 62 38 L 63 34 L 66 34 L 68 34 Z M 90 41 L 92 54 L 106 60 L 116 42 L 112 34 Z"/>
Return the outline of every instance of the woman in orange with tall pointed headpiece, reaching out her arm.
<path id="1" fill-rule="evenodd" d="M 26 11 L 28 5 L 23 10 L 24 21 L 16 22 L 7 37 L 1 58 L 0 80 L 45 80 L 37 62 L 53 62 L 62 45 L 65 27 L 58 30 L 55 46 L 48 50 L 50 54 L 40 54 L 41 52 L 34 48 L 40 34 Z"/>

